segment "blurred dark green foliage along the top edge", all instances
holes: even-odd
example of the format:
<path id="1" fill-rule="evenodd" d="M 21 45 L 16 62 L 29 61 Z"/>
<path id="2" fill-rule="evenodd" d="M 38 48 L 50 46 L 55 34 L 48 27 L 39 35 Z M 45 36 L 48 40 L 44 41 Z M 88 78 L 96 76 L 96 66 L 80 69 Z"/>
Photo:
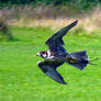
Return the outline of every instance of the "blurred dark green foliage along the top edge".
<path id="1" fill-rule="evenodd" d="M 55 7 L 67 5 L 72 9 L 88 10 L 101 4 L 101 0 L 0 0 L 0 7 L 12 4 L 52 4 Z"/>

